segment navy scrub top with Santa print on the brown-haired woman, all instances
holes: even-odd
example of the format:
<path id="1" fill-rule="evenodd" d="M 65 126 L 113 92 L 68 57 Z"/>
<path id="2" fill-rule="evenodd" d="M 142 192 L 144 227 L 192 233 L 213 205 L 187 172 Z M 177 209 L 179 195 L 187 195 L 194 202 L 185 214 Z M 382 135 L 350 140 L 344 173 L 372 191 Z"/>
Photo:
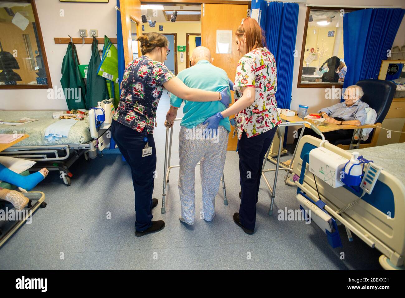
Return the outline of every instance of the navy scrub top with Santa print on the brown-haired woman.
<path id="1" fill-rule="evenodd" d="M 153 134 L 163 83 L 175 75 L 161 62 L 141 56 L 125 68 L 121 96 L 113 119 L 137 132 Z"/>

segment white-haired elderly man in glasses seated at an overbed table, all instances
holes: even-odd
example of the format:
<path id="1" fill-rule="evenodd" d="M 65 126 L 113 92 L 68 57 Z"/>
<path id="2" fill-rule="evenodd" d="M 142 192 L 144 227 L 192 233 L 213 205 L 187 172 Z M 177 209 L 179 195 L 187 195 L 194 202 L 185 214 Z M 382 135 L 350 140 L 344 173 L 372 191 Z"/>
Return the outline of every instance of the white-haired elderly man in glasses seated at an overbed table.
<path id="1" fill-rule="evenodd" d="M 366 108 L 369 107 L 368 104 L 362 102 L 361 98 L 364 95 L 363 89 L 358 85 L 352 85 L 346 88 L 344 94 L 344 102 L 339 102 L 333 106 L 320 109 L 318 113 L 321 113 L 323 118 L 326 118 L 326 123 L 334 123 L 337 125 L 354 125 L 361 126 L 364 124 L 367 118 Z M 294 143 L 291 148 L 291 152 L 294 152 L 294 149 L 298 143 L 298 136 L 300 135 L 301 130 L 298 131 L 297 137 L 294 139 Z M 319 138 L 311 129 L 304 130 L 304 135 L 309 134 Z M 337 140 L 351 138 L 353 135 L 353 130 L 334 130 L 332 132 L 324 132 L 325 139 L 329 143 L 333 144 Z"/>

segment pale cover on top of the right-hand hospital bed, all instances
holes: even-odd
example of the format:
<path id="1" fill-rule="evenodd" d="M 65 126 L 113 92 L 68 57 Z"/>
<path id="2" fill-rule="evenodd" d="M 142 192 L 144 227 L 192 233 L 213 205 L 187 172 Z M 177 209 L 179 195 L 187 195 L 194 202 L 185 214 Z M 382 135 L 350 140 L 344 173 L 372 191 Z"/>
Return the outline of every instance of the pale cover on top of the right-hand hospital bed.
<path id="1" fill-rule="evenodd" d="M 405 185 L 405 143 L 347 151 L 357 151 L 364 158 L 373 160 L 376 165 L 395 175 Z"/>

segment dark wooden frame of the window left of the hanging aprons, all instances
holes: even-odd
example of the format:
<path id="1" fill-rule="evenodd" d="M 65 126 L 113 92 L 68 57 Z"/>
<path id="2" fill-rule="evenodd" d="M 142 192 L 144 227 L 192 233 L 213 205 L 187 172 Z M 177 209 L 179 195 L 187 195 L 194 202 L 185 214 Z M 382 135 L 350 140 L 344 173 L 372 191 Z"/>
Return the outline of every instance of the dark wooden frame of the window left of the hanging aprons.
<path id="1" fill-rule="evenodd" d="M 25 1 L 24 1 L 25 2 Z M 41 26 L 39 24 L 38 11 L 36 10 L 35 0 L 28 0 L 27 3 L 31 4 L 32 13 L 34 14 L 36 32 L 38 34 L 39 46 L 42 52 L 42 60 L 47 74 L 47 85 L 0 85 L 0 90 L 5 89 L 49 89 L 52 88 L 51 74 L 49 72 L 47 54 L 45 52 L 44 40 L 42 37 Z"/>

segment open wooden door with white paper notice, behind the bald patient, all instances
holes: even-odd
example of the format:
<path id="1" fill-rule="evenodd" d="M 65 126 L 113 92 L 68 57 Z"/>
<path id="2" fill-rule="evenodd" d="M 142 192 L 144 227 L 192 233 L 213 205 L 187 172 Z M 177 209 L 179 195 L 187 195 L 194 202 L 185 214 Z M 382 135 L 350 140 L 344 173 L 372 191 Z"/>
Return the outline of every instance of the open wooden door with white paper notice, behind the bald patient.
<path id="1" fill-rule="evenodd" d="M 225 70 L 232 81 L 235 79 L 236 66 L 241 57 L 237 51 L 235 32 L 242 19 L 247 16 L 247 9 L 247 4 L 201 4 L 201 45 L 211 50 L 213 64 Z M 216 53 L 217 30 L 232 30 L 231 54 Z M 233 92 L 231 93 L 233 103 Z M 233 127 L 231 130 L 227 150 L 235 151 L 238 139 L 237 136 L 232 138 Z"/>

